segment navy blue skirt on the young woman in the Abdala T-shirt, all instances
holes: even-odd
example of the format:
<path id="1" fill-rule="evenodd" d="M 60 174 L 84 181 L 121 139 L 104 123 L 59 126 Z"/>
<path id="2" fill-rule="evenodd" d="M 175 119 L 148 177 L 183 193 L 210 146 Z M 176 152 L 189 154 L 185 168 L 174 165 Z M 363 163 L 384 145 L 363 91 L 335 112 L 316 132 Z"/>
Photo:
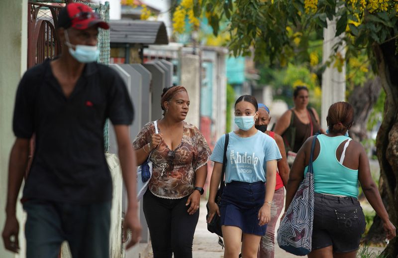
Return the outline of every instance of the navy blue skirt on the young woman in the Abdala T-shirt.
<path id="1" fill-rule="evenodd" d="M 235 226 L 243 233 L 264 236 L 267 225 L 258 225 L 258 212 L 264 205 L 264 198 L 264 182 L 226 184 L 220 205 L 221 226 Z"/>

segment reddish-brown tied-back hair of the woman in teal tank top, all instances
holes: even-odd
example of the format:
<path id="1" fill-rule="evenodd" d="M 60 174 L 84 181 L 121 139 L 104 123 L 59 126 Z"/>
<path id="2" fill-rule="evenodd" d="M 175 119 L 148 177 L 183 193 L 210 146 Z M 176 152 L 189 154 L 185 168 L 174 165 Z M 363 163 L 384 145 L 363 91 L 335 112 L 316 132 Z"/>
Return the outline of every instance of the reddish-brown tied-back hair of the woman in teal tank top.
<path id="1" fill-rule="evenodd" d="M 354 121 L 354 108 L 348 102 L 336 102 L 327 113 L 329 131 L 344 132 Z"/>

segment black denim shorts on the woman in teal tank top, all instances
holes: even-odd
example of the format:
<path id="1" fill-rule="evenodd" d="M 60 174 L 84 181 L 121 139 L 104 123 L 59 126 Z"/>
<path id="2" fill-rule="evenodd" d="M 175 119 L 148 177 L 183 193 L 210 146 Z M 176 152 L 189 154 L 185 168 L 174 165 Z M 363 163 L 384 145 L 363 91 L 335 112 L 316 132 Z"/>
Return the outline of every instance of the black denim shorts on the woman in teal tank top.
<path id="1" fill-rule="evenodd" d="M 355 251 L 365 226 L 358 199 L 315 193 L 312 250 L 333 246 L 333 253 Z"/>

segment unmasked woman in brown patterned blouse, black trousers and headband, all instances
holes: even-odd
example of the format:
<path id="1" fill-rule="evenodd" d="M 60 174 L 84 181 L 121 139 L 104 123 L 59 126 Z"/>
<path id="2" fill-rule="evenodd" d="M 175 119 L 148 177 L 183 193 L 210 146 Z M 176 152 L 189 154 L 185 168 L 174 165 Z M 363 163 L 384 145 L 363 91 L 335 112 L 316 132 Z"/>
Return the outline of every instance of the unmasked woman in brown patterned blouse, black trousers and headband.
<path id="1" fill-rule="evenodd" d="M 189 104 L 184 87 L 164 89 L 161 106 L 165 112 L 157 121 L 159 133 L 150 122 L 133 142 L 137 163 L 149 155 L 153 162 L 143 209 L 154 258 L 171 258 L 173 254 L 175 258 L 192 258 L 210 149 L 199 129 L 184 121 Z"/>

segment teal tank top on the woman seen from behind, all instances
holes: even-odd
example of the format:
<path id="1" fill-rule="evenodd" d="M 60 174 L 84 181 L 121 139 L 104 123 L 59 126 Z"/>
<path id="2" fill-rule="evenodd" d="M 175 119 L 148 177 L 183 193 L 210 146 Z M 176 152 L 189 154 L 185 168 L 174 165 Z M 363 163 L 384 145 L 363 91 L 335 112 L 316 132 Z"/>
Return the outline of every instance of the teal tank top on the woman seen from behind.
<path id="1" fill-rule="evenodd" d="M 343 166 L 336 157 L 338 146 L 348 138 L 343 135 L 335 137 L 318 135 L 319 155 L 312 162 L 315 193 L 358 198 L 358 169 Z M 304 169 L 304 175 L 307 170 L 308 166 Z"/>

